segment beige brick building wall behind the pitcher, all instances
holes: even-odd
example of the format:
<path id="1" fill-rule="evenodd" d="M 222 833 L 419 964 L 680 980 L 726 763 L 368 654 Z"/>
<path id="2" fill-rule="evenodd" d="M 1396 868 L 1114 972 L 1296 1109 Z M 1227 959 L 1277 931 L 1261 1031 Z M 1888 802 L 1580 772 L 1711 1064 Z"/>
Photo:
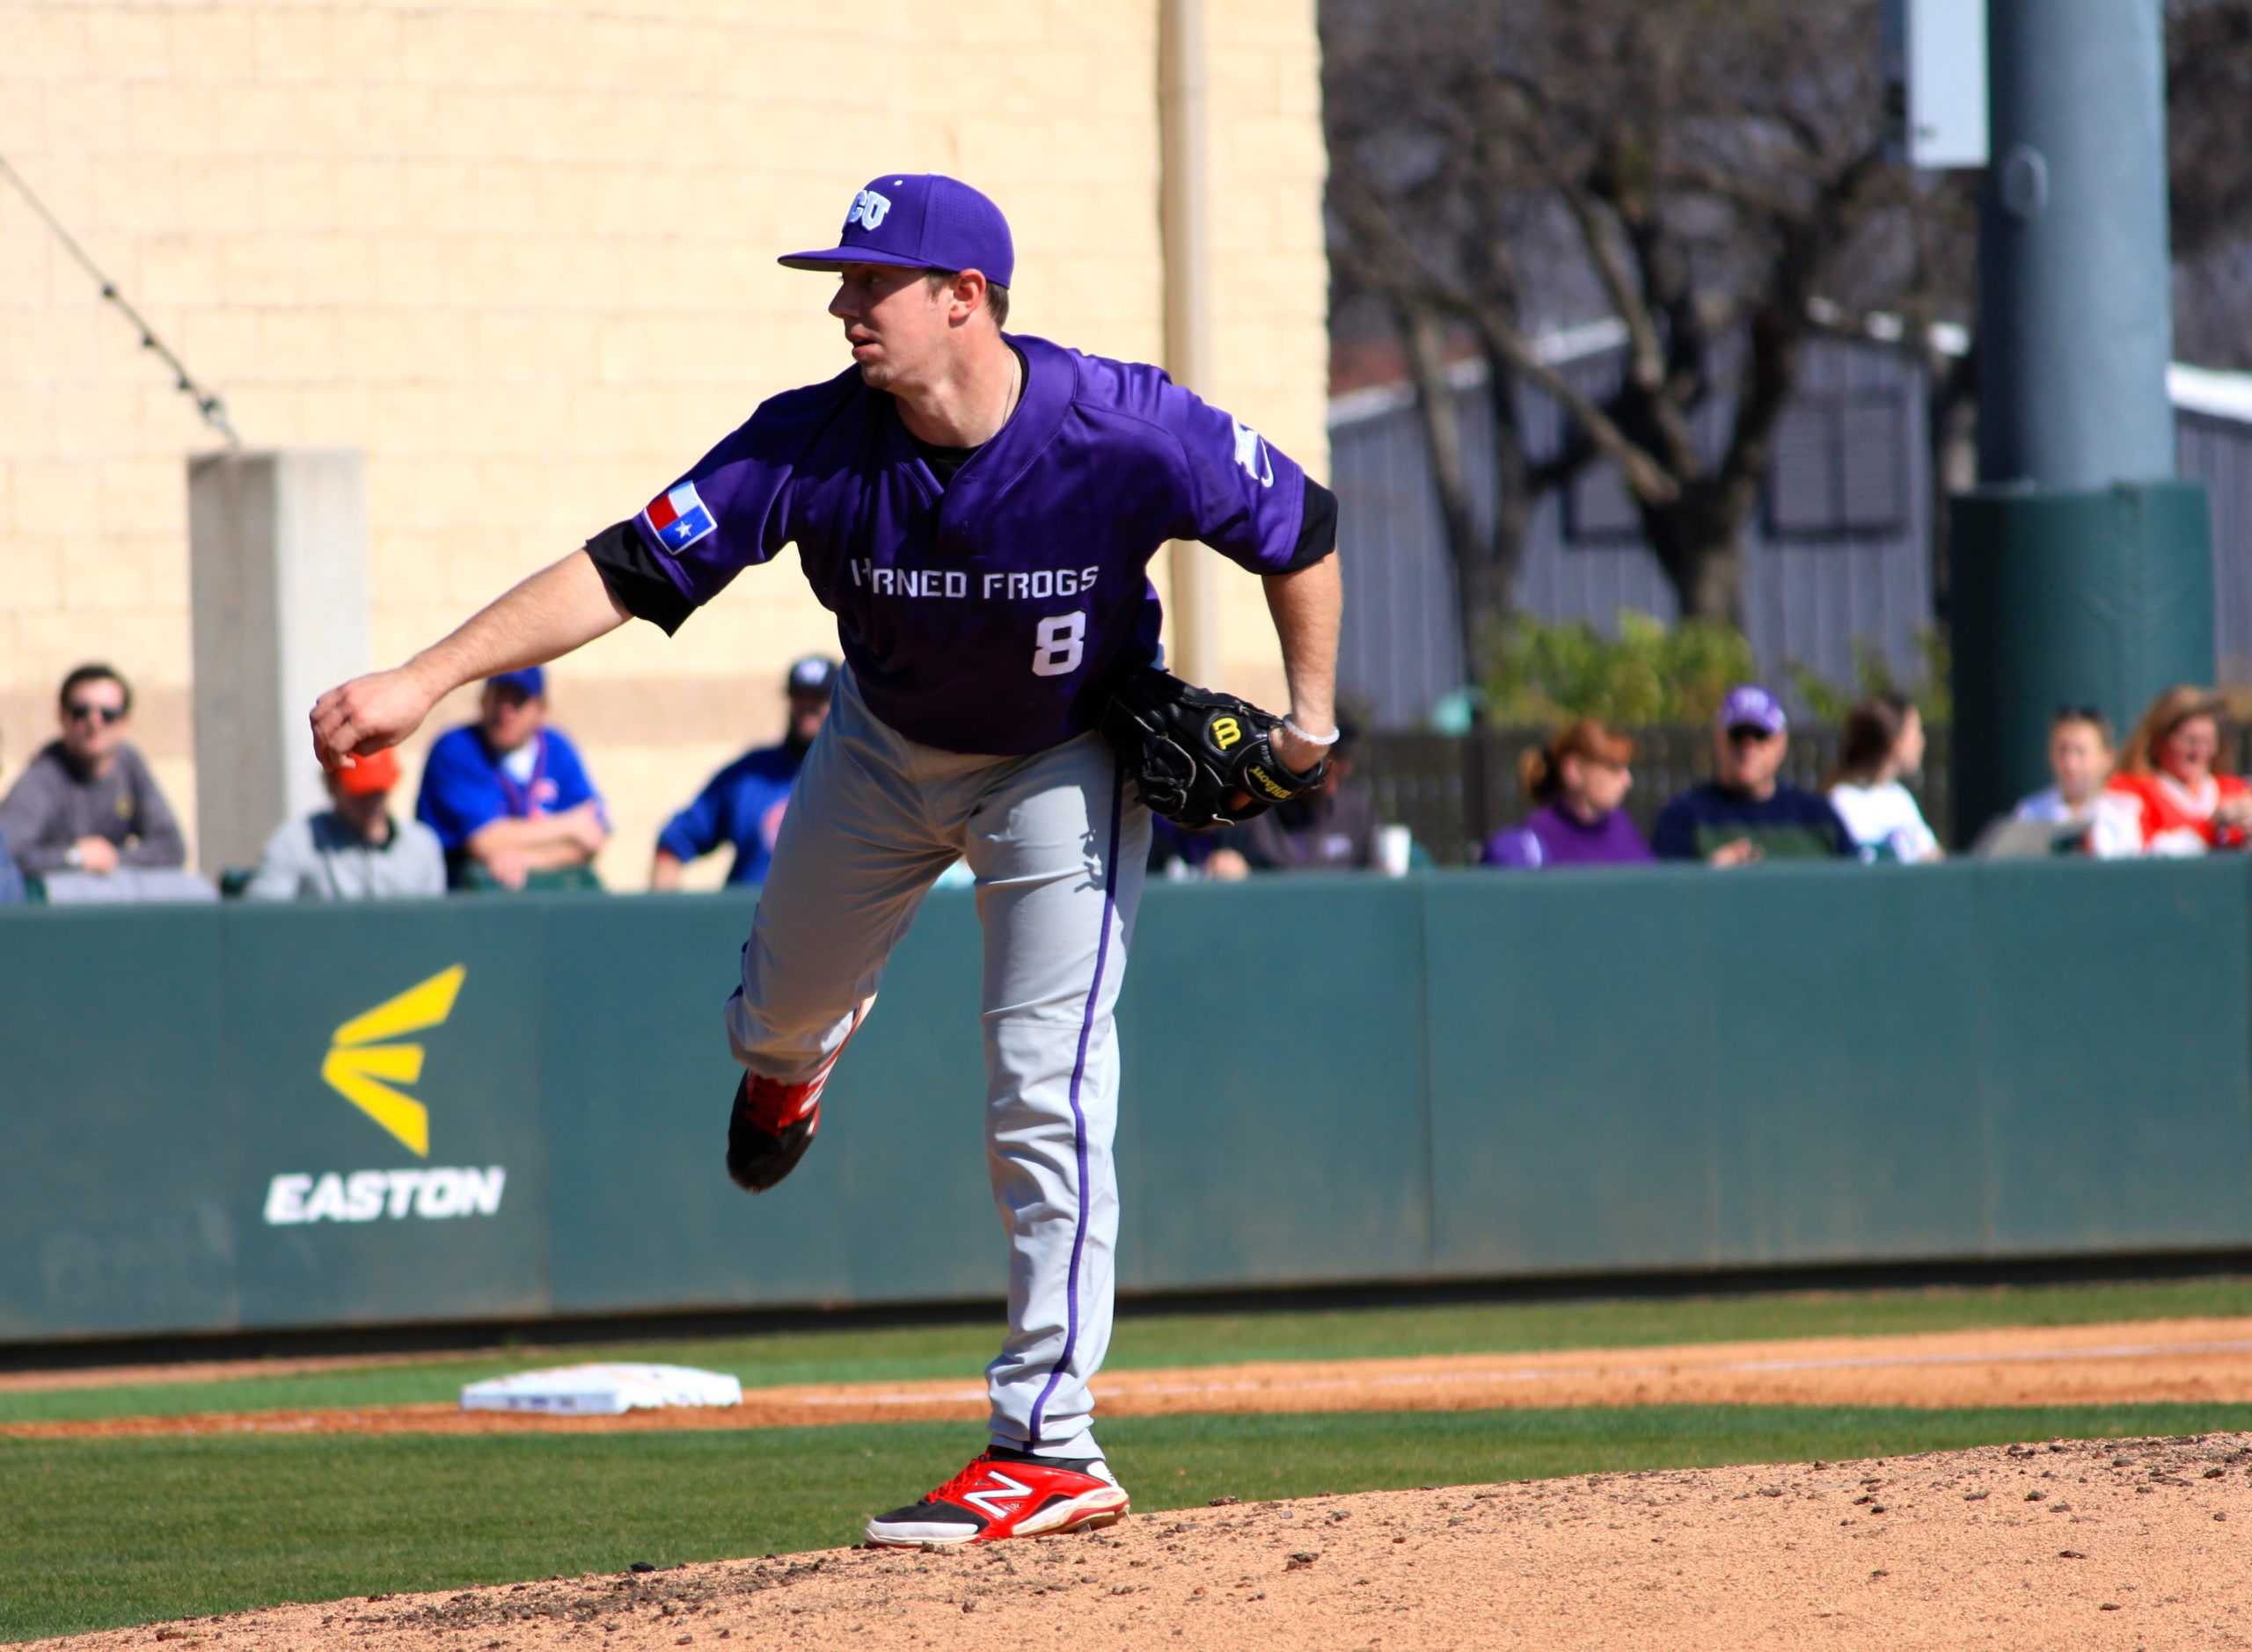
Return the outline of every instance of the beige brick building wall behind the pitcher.
<path id="1" fill-rule="evenodd" d="M 1326 475 L 1313 11 L 1205 5 L 1216 351 L 1194 387 Z M 824 243 L 876 171 L 1000 200 L 1013 329 L 1164 360 L 1158 34 L 1158 0 L 0 0 L 0 155 L 248 446 L 367 455 L 390 664 L 844 365 L 824 279 L 772 259 Z M 0 785 L 52 736 L 63 671 L 106 657 L 194 821 L 185 477 L 212 446 L 0 185 Z M 1218 590 L 1227 686 L 1275 698 L 1259 583 Z M 617 817 L 613 887 L 777 734 L 784 664 L 833 646 L 775 567 L 671 641 L 631 626 L 552 673 Z M 412 743 L 410 785 L 462 711 Z"/>

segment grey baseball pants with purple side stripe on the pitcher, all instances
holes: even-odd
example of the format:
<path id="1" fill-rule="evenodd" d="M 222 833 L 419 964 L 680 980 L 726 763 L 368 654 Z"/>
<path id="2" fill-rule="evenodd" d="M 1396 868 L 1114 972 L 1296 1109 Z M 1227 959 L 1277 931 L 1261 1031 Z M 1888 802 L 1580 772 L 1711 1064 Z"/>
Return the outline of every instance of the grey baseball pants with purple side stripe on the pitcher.
<path id="1" fill-rule="evenodd" d="M 1088 1380 L 1110 1346 L 1119 1220 L 1112 1008 L 1149 860 L 1149 810 L 1124 797 L 1103 738 L 941 752 L 876 718 L 842 671 L 775 842 L 727 1040 L 757 1074 L 808 1078 L 957 858 L 977 876 L 986 1170 L 1009 1233 L 991 1434 L 1101 1456 Z"/>

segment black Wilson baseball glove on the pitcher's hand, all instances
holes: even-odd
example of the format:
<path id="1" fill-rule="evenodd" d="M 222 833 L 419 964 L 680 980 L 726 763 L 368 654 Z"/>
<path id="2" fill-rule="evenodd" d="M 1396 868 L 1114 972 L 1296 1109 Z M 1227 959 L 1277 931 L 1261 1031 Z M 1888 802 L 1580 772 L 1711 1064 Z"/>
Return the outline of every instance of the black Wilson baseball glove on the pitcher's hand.
<path id="1" fill-rule="evenodd" d="M 1182 826 L 1232 826 L 1266 815 L 1322 783 L 1329 763 L 1293 774 L 1270 738 L 1281 718 L 1232 693 L 1196 689 L 1158 666 L 1135 666 L 1110 684 L 1103 736 L 1126 763 L 1142 801 Z"/>

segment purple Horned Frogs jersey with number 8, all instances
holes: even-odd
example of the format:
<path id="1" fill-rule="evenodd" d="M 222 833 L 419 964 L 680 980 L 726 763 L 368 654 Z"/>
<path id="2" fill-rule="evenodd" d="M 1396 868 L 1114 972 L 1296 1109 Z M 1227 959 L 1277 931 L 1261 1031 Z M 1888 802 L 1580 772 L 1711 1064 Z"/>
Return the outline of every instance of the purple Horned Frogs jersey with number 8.
<path id="1" fill-rule="evenodd" d="M 766 401 L 633 518 L 590 542 L 671 592 L 667 630 L 795 542 L 869 709 L 910 740 L 1018 756 L 1094 727 L 1103 684 L 1158 657 L 1149 558 L 1203 540 L 1281 574 L 1333 549 L 1326 491 L 1257 430 L 1155 367 L 1011 335 L 1025 392 L 941 484 L 890 394 L 844 369 Z M 1308 497 L 1320 497 L 1308 520 Z"/>

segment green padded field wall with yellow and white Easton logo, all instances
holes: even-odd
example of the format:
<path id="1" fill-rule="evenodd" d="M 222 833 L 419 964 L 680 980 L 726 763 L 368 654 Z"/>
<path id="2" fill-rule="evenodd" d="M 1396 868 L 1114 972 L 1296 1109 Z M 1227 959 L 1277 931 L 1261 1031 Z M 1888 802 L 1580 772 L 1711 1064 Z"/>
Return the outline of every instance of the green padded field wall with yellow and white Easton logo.
<path id="1" fill-rule="evenodd" d="M 0 918 L 0 1341 L 995 1296 L 930 898 L 752 1200 L 752 903 Z M 2252 1247 L 2252 867 L 1149 891 L 1133 1290 Z"/>

